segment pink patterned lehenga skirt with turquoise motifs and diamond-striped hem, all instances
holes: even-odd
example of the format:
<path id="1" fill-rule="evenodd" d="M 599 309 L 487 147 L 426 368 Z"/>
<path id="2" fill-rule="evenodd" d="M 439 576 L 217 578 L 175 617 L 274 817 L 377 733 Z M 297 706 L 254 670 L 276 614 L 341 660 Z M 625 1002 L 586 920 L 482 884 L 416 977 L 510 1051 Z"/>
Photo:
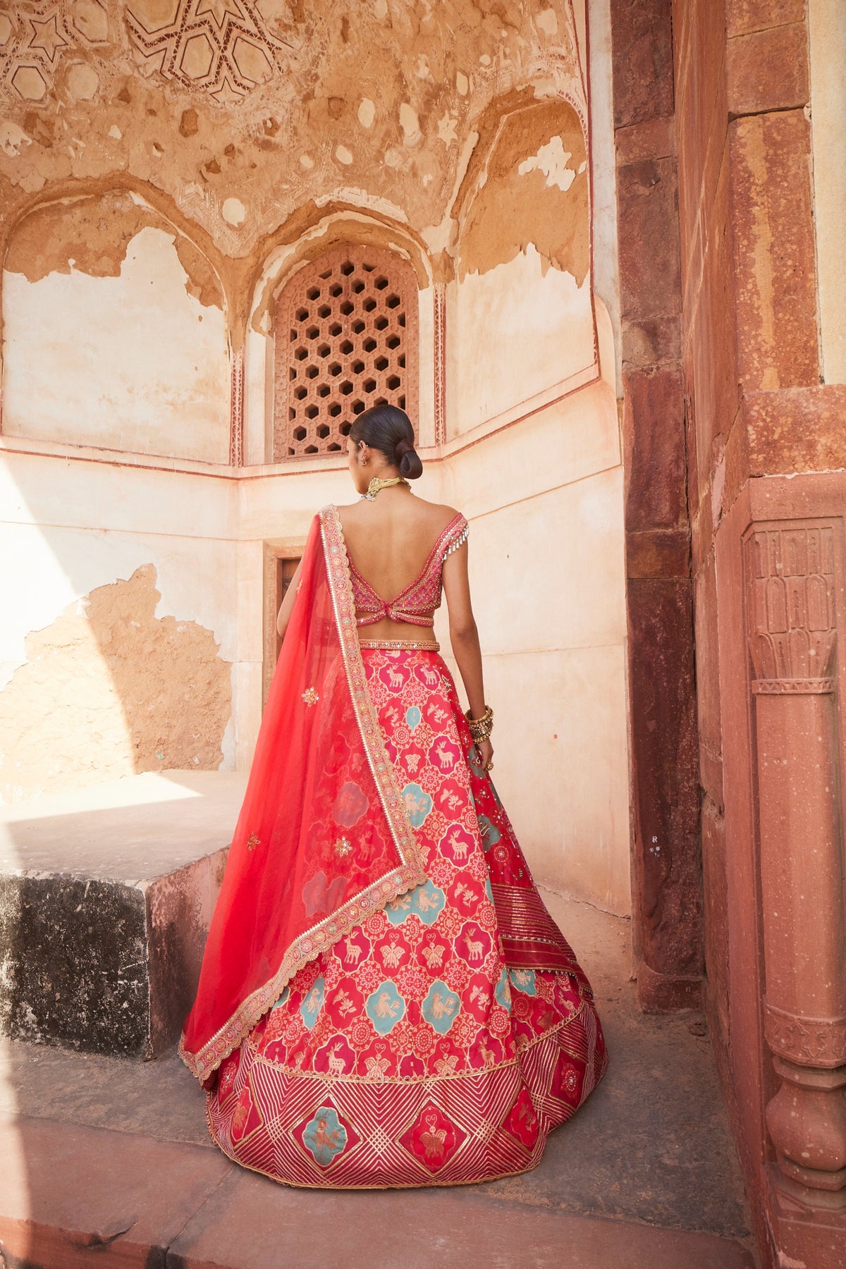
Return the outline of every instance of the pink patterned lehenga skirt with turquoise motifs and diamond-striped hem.
<path id="1" fill-rule="evenodd" d="M 605 1072 L 590 982 L 563 938 L 567 968 L 519 952 L 521 921 L 550 919 L 440 655 L 361 655 L 427 879 L 296 973 L 221 1065 L 209 1129 L 231 1159 L 290 1185 L 523 1173 Z M 521 887 L 507 931 L 493 873 Z"/>

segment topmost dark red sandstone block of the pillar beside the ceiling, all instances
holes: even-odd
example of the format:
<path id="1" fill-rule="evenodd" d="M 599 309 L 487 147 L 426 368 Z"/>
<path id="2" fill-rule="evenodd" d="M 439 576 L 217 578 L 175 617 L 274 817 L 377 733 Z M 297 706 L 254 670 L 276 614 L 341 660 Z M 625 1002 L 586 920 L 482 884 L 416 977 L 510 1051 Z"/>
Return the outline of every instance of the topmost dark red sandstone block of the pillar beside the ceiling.
<path id="1" fill-rule="evenodd" d="M 672 114 L 672 22 L 666 0 L 611 0 L 614 124 Z"/>

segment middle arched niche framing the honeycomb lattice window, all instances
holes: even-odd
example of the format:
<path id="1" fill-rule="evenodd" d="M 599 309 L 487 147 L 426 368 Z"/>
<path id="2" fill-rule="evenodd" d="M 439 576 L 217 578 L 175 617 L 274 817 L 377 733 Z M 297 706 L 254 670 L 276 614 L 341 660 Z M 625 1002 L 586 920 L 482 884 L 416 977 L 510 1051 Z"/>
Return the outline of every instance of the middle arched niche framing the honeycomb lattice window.
<path id="1" fill-rule="evenodd" d="M 368 269 L 356 266 L 351 273 L 339 277 L 320 277 L 321 273 L 337 272 L 335 266 L 340 268 L 348 260 L 354 265 L 356 261 L 367 264 Z M 372 277 L 373 286 L 365 282 L 365 273 Z M 377 278 L 387 279 L 388 286 L 377 287 Z M 306 293 L 323 283 L 335 284 L 336 288 L 340 284 L 341 289 L 361 283 L 363 287 L 349 296 L 320 296 L 312 303 Z M 430 261 L 420 244 L 401 227 L 364 212 L 334 213 L 311 226 L 296 242 L 278 246 L 266 259 L 256 280 L 247 322 L 245 461 L 337 466 L 339 461 L 345 462 L 344 447 L 335 448 L 340 423 L 350 421 L 356 412 L 379 397 L 402 405 L 415 425 L 419 443 L 431 444 L 434 292 Z M 306 302 L 298 303 L 298 298 Z M 397 299 L 400 303 L 396 303 Z M 345 303 L 349 312 L 336 312 L 337 303 Z M 372 307 L 359 312 L 363 303 L 370 303 Z M 321 313 L 323 308 L 330 311 Z M 400 334 L 394 329 L 398 312 L 403 313 L 400 343 L 394 348 L 383 349 L 381 340 Z M 301 320 L 298 313 L 306 316 Z M 377 321 L 381 321 L 378 330 L 374 327 Z M 353 324 L 363 324 L 363 329 L 353 330 Z M 340 332 L 336 331 L 339 325 L 342 327 Z M 311 340 L 309 330 L 317 331 Z M 375 348 L 370 346 L 374 341 Z M 293 343 L 298 348 L 302 345 L 304 350 L 312 343 L 315 352 L 320 348 L 330 349 L 325 357 L 318 353 L 316 358 L 303 359 L 303 364 L 313 364 L 318 371 L 302 398 L 304 409 L 312 411 L 304 420 L 289 418 L 290 411 L 297 412 L 298 409 L 297 402 L 289 400 L 294 379 L 290 358 L 285 352 L 285 346 Z M 405 364 L 400 363 L 400 358 Z M 382 364 L 383 360 L 388 362 L 387 367 Z M 339 383 L 350 385 L 351 391 L 342 395 L 342 398 L 336 400 L 337 395 L 331 391 L 327 376 L 321 373 L 323 363 L 329 365 L 330 362 L 340 367 L 340 373 L 335 376 Z M 346 374 L 348 369 L 351 372 L 359 363 L 361 365 L 354 374 Z M 364 392 L 364 385 L 370 379 L 374 386 Z M 297 385 L 299 386 L 298 379 Z M 329 386 L 330 391 L 318 396 L 321 386 Z M 348 398 L 349 412 L 329 412 L 339 401 L 346 404 Z M 315 409 L 317 414 L 313 412 Z M 306 431 L 304 437 L 294 438 L 293 444 L 285 439 L 289 423 L 296 424 L 298 431 Z M 317 435 L 318 428 L 325 434 Z M 294 450 L 293 454 L 289 453 L 290 449 Z"/>

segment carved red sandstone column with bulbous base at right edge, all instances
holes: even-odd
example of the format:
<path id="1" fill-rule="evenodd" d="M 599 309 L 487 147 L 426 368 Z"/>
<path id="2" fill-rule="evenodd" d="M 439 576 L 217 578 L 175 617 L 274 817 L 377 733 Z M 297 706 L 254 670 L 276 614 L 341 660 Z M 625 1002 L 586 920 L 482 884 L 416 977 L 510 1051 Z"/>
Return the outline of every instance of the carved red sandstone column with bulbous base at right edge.
<path id="1" fill-rule="evenodd" d="M 846 892 L 835 676 L 837 522 L 745 538 L 778 1187 L 846 1211 Z M 838 552 L 840 557 L 840 552 Z M 842 614 L 841 614 L 842 619 Z"/>

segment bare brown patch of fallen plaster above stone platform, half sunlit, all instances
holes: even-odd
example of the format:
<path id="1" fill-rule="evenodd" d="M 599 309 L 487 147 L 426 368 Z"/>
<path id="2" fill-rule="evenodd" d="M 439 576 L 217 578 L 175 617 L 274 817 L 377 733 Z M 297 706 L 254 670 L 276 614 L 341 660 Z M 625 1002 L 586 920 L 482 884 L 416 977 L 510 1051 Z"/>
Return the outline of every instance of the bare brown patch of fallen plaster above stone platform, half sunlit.
<path id="1" fill-rule="evenodd" d="M 203 626 L 155 615 L 155 584 L 143 565 L 27 637 L 0 692 L 0 799 L 221 765 L 231 665 Z"/>

